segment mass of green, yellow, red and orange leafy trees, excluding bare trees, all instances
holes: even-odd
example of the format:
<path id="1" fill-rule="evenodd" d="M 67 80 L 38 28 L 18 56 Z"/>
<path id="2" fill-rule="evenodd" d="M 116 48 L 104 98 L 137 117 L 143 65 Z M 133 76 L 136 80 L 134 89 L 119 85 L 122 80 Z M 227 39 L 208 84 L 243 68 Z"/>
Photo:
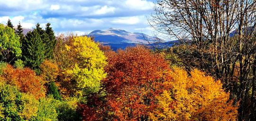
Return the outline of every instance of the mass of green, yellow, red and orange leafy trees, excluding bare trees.
<path id="1" fill-rule="evenodd" d="M 221 81 L 176 67 L 183 63 L 175 54 L 140 45 L 114 52 L 87 36 L 56 39 L 49 23 L 25 36 L 20 23 L 16 33 L 0 25 L 0 35 L 1 58 L 15 57 L 0 62 L 1 121 L 237 119 Z"/>

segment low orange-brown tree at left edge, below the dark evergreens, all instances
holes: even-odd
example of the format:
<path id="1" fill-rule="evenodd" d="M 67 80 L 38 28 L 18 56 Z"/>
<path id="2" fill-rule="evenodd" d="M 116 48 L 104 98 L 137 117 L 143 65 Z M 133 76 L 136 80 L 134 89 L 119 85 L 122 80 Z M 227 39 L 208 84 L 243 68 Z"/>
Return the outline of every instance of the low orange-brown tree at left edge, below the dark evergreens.
<path id="1" fill-rule="evenodd" d="M 34 95 L 37 99 L 45 96 L 45 82 L 29 68 L 14 69 L 11 65 L 7 65 L 1 77 L 7 84 L 17 86 L 21 92 Z"/>

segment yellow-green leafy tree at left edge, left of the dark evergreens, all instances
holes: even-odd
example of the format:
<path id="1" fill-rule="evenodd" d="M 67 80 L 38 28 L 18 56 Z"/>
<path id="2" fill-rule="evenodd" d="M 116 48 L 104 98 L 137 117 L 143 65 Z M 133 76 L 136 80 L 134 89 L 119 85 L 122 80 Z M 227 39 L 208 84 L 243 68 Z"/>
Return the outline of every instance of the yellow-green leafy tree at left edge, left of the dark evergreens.
<path id="1" fill-rule="evenodd" d="M 18 35 L 9 26 L 0 24 L 0 61 L 13 63 L 21 56 Z"/>

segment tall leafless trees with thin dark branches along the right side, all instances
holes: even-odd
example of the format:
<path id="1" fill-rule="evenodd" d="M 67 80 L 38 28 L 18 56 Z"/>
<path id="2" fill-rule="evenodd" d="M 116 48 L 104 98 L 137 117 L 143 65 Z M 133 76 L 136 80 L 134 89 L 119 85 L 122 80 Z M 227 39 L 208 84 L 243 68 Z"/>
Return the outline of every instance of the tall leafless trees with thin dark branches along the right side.
<path id="1" fill-rule="evenodd" d="M 222 80 L 239 120 L 256 119 L 255 0 L 158 0 L 149 23 L 183 43 L 188 68 Z"/>

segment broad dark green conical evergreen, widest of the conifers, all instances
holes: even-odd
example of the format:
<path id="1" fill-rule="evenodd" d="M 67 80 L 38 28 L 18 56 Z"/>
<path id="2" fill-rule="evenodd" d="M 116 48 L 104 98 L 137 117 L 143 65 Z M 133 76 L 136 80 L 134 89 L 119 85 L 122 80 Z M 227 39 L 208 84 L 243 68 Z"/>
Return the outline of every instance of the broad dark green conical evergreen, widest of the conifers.
<path id="1" fill-rule="evenodd" d="M 22 42 L 22 52 L 25 65 L 34 69 L 38 74 L 39 66 L 45 60 L 45 47 L 37 28 L 27 33 Z"/>

